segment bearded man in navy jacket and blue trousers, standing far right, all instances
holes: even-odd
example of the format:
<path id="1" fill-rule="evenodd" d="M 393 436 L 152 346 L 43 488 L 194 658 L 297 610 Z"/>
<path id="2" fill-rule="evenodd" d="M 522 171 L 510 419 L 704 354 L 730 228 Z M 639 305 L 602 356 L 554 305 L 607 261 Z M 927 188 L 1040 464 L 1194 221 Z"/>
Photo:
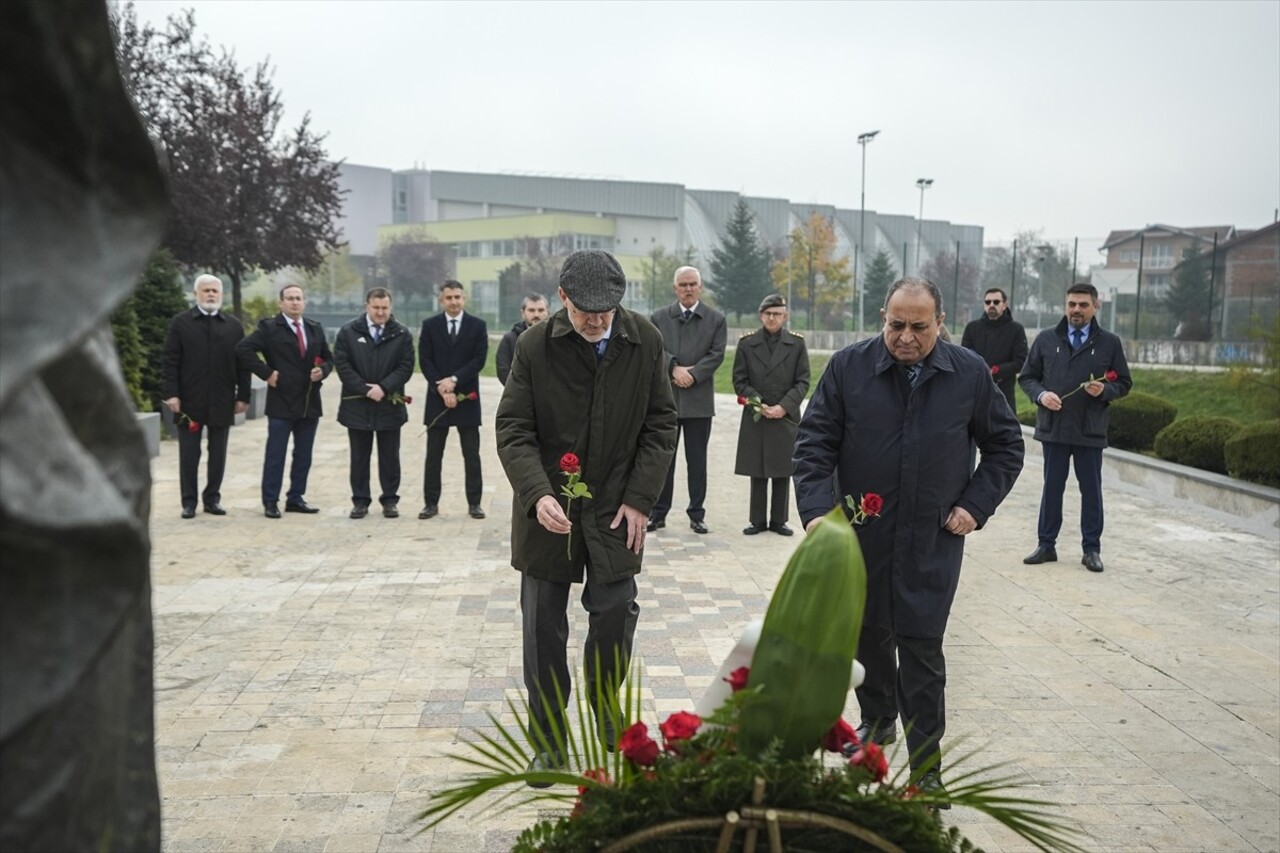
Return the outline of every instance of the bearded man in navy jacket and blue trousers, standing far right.
<path id="1" fill-rule="evenodd" d="M 1036 403 L 1036 441 L 1044 455 L 1036 551 L 1027 565 L 1057 560 L 1062 491 L 1068 465 L 1080 485 L 1080 540 L 1089 571 L 1102 571 L 1102 448 L 1107 446 L 1107 406 L 1129 393 L 1133 378 L 1120 338 L 1094 316 L 1098 291 L 1073 284 L 1066 316 L 1036 336 L 1018 384 Z"/>

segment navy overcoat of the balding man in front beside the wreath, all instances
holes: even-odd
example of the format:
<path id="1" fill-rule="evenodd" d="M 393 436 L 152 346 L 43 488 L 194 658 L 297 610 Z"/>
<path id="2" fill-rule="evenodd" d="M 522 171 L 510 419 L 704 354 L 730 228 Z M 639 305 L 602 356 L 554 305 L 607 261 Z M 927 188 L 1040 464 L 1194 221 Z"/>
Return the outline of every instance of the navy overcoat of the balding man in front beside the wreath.
<path id="1" fill-rule="evenodd" d="M 938 341 L 914 389 L 879 336 L 832 356 L 800 421 L 796 505 L 808 524 L 845 494 L 883 497 L 881 515 L 856 529 L 864 625 L 942 637 L 964 558 L 964 537 L 943 529 L 951 507 L 982 528 L 1014 487 L 1023 451 L 1021 426 L 970 350 Z"/>

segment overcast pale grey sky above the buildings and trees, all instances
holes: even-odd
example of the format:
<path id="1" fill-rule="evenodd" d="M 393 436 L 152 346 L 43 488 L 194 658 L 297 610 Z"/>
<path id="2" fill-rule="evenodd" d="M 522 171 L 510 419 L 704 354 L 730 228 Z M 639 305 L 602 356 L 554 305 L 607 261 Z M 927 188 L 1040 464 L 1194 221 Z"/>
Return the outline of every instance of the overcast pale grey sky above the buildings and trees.
<path id="1" fill-rule="evenodd" d="M 978 224 L 1272 222 L 1280 3 L 142 0 L 270 58 L 329 154 Z"/>

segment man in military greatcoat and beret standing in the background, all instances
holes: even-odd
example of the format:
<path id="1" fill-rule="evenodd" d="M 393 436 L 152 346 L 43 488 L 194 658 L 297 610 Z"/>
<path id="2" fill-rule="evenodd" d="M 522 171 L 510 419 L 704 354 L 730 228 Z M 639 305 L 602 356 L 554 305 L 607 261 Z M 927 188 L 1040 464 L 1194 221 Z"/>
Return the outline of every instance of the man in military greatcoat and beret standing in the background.
<path id="1" fill-rule="evenodd" d="M 783 328 L 786 321 L 787 301 L 769 293 L 760 302 L 760 328 L 739 339 L 733 356 L 733 391 L 745 401 L 733 473 L 751 478 L 750 524 L 742 530 L 749 537 L 764 530 L 791 535 L 791 452 L 809 392 L 809 350 L 804 338 Z M 773 502 L 765 523 L 769 480 Z"/>

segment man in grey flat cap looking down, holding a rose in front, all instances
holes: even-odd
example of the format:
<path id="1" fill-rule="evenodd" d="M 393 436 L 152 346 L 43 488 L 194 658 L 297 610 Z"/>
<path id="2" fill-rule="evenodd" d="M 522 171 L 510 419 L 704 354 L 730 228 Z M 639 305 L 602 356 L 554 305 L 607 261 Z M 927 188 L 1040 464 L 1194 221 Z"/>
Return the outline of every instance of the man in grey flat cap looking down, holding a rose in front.
<path id="1" fill-rule="evenodd" d="M 511 565 L 520 571 L 531 771 L 563 763 L 556 733 L 570 693 L 568 596 L 582 583 L 588 684 L 609 748 L 617 720 L 596 708 L 626 674 L 645 524 L 676 452 L 676 403 L 662 334 L 620 306 L 626 275 L 608 252 L 564 260 L 564 307 L 516 339 L 498 403 L 498 459 L 515 492 Z M 562 497 L 576 474 L 590 497 Z M 599 688 L 596 685 L 600 685 Z M 547 780 L 530 779 L 534 786 Z"/>

